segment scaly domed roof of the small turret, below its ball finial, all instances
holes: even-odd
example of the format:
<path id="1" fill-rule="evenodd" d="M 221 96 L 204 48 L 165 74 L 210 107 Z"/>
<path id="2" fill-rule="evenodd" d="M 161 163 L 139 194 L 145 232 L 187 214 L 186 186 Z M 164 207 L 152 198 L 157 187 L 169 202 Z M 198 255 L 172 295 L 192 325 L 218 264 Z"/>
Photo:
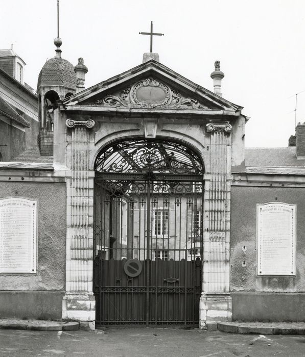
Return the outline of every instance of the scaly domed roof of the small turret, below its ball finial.
<path id="1" fill-rule="evenodd" d="M 76 88 L 74 65 L 61 57 L 46 61 L 38 75 L 37 89 L 40 86 L 64 85 Z"/>

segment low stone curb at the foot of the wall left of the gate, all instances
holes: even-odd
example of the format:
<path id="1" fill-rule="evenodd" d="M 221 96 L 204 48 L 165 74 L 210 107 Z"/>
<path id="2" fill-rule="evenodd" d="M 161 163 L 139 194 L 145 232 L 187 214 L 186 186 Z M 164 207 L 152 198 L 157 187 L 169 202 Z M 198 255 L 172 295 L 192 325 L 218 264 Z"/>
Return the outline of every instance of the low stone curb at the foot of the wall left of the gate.
<path id="1" fill-rule="evenodd" d="M 14 330 L 36 330 L 36 331 L 76 331 L 79 329 L 79 322 L 52 322 L 52 321 L 35 321 L 35 322 L 11 322 L 0 321 L 0 329 Z"/>

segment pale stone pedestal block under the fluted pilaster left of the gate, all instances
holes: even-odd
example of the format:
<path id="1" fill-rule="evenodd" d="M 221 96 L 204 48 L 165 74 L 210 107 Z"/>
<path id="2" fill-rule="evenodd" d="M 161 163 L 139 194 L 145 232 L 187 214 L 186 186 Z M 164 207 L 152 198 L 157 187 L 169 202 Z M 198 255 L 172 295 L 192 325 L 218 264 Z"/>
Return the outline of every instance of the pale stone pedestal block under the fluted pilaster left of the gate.
<path id="1" fill-rule="evenodd" d="M 80 328 L 95 329 L 96 301 L 92 293 L 68 294 L 62 299 L 62 319 L 80 321 Z"/>

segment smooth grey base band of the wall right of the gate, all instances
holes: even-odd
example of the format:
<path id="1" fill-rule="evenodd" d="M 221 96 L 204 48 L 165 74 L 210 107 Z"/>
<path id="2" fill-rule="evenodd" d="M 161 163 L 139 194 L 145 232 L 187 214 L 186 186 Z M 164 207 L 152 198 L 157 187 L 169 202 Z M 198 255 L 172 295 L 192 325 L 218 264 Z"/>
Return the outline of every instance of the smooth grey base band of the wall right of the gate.
<path id="1" fill-rule="evenodd" d="M 305 293 L 231 293 L 238 321 L 304 321 Z"/>

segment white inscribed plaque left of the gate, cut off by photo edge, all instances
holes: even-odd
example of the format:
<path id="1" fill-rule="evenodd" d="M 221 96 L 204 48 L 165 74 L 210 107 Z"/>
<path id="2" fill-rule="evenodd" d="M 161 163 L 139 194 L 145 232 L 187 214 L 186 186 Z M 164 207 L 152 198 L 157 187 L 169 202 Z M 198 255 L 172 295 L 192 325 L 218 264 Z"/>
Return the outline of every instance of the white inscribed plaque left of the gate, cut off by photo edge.
<path id="1" fill-rule="evenodd" d="M 37 201 L 0 199 L 0 273 L 36 273 Z"/>

